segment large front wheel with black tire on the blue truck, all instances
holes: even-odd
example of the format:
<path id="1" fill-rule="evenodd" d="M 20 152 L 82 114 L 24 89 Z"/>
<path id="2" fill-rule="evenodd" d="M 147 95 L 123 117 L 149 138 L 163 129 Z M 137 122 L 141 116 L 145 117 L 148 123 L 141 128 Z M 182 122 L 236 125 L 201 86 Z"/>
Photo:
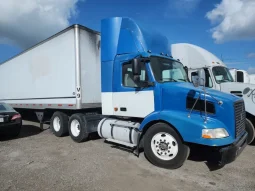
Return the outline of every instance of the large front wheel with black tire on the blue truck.
<path id="1" fill-rule="evenodd" d="M 176 131 L 165 123 L 152 125 L 144 135 L 145 156 L 155 166 L 177 169 L 187 160 L 189 152 Z"/>

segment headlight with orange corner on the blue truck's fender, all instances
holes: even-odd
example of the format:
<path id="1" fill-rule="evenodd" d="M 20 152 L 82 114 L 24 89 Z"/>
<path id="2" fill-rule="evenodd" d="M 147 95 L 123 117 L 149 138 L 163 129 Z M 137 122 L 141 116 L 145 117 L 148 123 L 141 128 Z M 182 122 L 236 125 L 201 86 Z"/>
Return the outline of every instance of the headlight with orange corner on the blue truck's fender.
<path id="1" fill-rule="evenodd" d="M 219 139 L 219 138 L 225 138 L 228 136 L 229 134 L 224 128 L 202 130 L 202 137 L 205 139 Z"/>

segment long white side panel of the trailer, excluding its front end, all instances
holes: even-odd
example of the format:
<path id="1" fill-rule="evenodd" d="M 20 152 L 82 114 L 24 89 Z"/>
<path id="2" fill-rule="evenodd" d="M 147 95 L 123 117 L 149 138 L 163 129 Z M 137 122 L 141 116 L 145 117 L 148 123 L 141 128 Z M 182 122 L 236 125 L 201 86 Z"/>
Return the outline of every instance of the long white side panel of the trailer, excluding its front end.
<path id="1" fill-rule="evenodd" d="M 0 100 L 15 108 L 75 107 L 74 29 L 0 65 Z"/>

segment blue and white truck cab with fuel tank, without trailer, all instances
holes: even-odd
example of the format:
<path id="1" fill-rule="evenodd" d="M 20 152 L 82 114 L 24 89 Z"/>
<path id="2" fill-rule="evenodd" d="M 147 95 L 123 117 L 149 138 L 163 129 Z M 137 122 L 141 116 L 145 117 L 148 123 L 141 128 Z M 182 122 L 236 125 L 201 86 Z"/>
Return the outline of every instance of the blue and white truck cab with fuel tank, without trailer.
<path id="1" fill-rule="evenodd" d="M 183 64 L 170 55 L 166 37 L 132 19 L 102 21 L 105 117 L 98 124 L 99 135 L 134 147 L 137 154 L 142 145 L 148 160 L 163 168 L 182 166 L 190 144 L 215 149 L 222 164 L 234 161 L 246 146 L 242 98 L 194 86 Z M 202 76 L 201 84 L 206 81 Z"/>

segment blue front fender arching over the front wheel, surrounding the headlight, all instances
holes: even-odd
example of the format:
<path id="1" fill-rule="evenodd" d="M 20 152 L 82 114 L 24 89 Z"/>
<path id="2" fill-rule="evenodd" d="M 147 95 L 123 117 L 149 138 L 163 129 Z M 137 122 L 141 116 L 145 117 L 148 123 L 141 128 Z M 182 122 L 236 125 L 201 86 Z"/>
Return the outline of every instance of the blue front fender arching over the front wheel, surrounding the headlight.
<path id="1" fill-rule="evenodd" d="M 230 133 L 230 136 L 224 139 L 203 139 L 202 129 L 222 127 L 229 131 L 229 127 L 221 121 L 208 117 L 207 124 L 203 123 L 203 118 L 199 114 L 193 113 L 191 118 L 187 117 L 188 112 L 175 110 L 162 110 L 153 112 L 147 116 L 140 126 L 140 131 L 144 126 L 152 121 L 166 121 L 177 129 L 185 142 L 197 143 L 208 146 L 223 146 L 231 144 L 235 141 L 235 135 Z"/>

